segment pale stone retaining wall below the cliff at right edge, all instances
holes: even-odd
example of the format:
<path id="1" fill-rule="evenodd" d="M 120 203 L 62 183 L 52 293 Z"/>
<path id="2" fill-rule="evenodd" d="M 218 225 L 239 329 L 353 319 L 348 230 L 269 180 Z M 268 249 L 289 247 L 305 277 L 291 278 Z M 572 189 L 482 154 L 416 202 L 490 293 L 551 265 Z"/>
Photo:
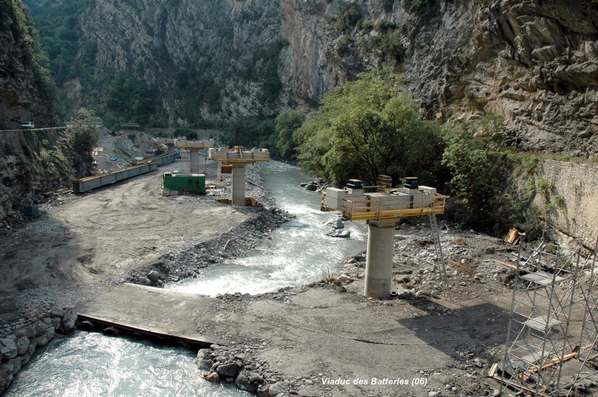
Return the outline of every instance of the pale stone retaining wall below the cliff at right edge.
<path id="1" fill-rule="evenodd" d="M 553 238 L 569 244 L 575 239 L 593 248 L 598 235 L 598 164 L 542 160 L 536 176 L 550 183 L 551 196 L 565 199 L 562 206 L 547 211 Z M 536 194 L 534 204 L 545 210 L 544 195 Z"/>

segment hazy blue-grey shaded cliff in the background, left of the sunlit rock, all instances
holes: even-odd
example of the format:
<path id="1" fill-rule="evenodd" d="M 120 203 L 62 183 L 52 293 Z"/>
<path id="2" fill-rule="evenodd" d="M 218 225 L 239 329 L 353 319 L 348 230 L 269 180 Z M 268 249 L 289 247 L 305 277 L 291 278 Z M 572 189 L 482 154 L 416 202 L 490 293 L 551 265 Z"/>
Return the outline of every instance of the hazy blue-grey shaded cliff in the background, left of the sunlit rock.
<path id="1" fill-rule="evenodd" d="M 158 86 L 167 117 L 185 124 L 276 115 L 280 17 L 274 0 L 96 0 L 80 18 L 96 74 Z"/>

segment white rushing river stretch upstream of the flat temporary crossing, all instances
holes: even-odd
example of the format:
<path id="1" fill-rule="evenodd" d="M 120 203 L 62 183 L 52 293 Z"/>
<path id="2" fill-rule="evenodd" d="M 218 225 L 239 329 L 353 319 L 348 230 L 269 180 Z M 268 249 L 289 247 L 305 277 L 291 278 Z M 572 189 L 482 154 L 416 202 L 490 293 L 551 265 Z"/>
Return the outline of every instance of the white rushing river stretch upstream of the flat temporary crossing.
<path id="1" fill-rule="evenodd" d="M 334 217 L 322 213 L 320 193 L 300 187 L 309 180 L 292 165 L 270 162 L 263 172 L 266 189 L 277 207 L 297 218 L 283 224 L 264 239 L 247 257 L 208 267 L 198 278 L 167 285 L 166 288 L 215 296 L 222 293 L 264 293 L 287 285 L 303 285 L 322 279 L 349 254 L 365 250 L 367 229 L 363 223 L 346 222 L 351 238 L 325 236 L 330 228 L 323 222 Z"/>

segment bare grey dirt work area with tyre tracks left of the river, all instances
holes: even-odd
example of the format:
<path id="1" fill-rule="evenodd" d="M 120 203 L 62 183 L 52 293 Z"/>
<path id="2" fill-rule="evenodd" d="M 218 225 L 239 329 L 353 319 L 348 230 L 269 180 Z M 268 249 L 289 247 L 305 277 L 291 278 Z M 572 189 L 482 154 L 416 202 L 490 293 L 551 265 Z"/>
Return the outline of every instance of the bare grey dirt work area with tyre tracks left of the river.
<path id="1" fill-rule="evenodd" d="M 188 169 L 183 164 L 183 169 Z M 0 243 L 7 264 L 0 292 L 43 284 L 80 285 L 119 276 L 177 247 L 188 247 L 246 219 L 196 196 L 161 196 L 158 171 L 41 208 L 38 220 Z M 213 168 L 208 170 L 214 176 Z M 223 230 L 223 226 L 225 229 Z"/>

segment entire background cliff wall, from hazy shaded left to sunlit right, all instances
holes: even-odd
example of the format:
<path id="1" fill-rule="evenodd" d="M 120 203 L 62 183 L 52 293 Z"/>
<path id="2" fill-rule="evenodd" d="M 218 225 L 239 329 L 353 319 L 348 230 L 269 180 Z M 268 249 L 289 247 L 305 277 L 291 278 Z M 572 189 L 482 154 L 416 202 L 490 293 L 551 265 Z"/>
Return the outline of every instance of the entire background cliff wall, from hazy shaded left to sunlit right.
<path id="1" fill-rule="evenodd" d="M 385 3 L 385 4 L 383 4 Z M 97 42 L 97 73 L 126 72 L 160 87 L 167 116 L 185 121 L 182 93 L 203 78 L 203 118 L 313 108 L 323 94 L 389 59 L 428 118 L 507 120 L 521 149 L 598 152 L 598 5 L 591 0 L 437 0 L 419 13 L 401 0 L 97 0 L 80 16 Z M 400 54 L 362 45 L 386 21 Z M 198 77 L 203 76 L 203 77 Z"/>

